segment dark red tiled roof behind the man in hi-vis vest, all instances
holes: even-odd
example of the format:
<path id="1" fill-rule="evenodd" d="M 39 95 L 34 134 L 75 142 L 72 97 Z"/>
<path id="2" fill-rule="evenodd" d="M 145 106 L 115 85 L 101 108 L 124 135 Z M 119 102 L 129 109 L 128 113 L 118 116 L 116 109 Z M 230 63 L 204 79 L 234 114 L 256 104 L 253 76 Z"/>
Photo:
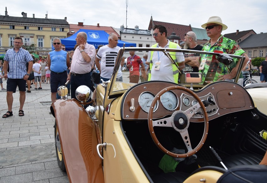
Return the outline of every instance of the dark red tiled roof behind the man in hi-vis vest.
<path id="1" fill-rule="evenodd" d="M 171 35 L 172 32 L 175 32 L 176 35 L 180 36 L 181 40 L 185 39 L 185 33 L 192 31 L 191 25 L 181 25 L 181 24 L 172 24 L 167 22 L 159 22 L 150 19 L 148 30 L 153 29 L 154 25 L 163 25 L 167 29 L 167 37 Z"/>

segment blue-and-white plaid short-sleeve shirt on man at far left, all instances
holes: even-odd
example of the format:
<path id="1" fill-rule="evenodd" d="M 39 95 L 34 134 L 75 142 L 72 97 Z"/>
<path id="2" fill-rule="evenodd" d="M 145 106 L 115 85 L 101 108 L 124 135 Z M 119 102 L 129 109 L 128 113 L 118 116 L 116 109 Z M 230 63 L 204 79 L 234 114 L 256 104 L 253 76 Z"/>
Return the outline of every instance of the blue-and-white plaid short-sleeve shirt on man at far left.
<path id="1" fill-rule="evenodd" d="M 8 61 L 9 64 L 8 78 L 22 79 L 27 74 L 26 63 L 32 60 L 27 50 L 20 48 L 16 53 L 14 48 L 9 49 L 4 57 L 4 61 Z"/>

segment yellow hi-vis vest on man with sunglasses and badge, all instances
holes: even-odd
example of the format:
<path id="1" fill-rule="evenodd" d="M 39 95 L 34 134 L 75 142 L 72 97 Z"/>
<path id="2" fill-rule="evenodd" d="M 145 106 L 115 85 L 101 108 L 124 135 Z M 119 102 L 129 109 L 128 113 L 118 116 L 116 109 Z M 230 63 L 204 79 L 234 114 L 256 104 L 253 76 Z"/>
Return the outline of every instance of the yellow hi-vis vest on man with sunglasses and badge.
<path id="1" fill-rule="evenodd" d="M 157 47 L 157 43 L 151 46 L 151 48 L 155 48 L 155 47 Z M 169 41 L 169 48 L 177 48 L 177 44 L 174 43 L 174 42 Z M 153 63 L 152 63 L 153 53 L 154 53 L 154 51 L 151 51 L 150 64 L 149 64 L 150 68 L 149 68 L 149 73 L 148 73 L 148 81 L 150 81 L 150 79 L 151 79 L 151 69 L 152 69 L 152 65 L 153 65 Z M 176 56 L 175 56 L 176 52 L 169 52 L 169 53 L 170 53 L 170 57 L 177 64 L 177 60 L 176 60 Z M 178 71 L 177 67 L 174 64 L 172 64 L 172 71 L 173 71 L 174 82 L 178 83 L 179 71 Z"/>

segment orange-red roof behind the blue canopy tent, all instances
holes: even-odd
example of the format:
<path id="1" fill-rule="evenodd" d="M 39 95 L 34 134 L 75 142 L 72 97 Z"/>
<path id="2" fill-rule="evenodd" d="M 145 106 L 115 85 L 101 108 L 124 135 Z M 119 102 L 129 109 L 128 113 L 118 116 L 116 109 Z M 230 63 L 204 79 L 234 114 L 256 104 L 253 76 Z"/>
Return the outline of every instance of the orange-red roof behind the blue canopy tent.
<path id="1" fill-rule="evenodd" d="M 104 30 L 107 34 L 116 34 L 118 38 L 120 35 L 113 29 L 113 27 L 106 27 L 106 26 L 94 26 L 94 25 L 83 25 L 83 23 L 78 24 L 70 24 L 70 32 L 68 33 L 69 36 L 74 35 L 80 29 L 88 29 L 88 30 Z M 71 32 L 74 31 L 74 32 Z"/>

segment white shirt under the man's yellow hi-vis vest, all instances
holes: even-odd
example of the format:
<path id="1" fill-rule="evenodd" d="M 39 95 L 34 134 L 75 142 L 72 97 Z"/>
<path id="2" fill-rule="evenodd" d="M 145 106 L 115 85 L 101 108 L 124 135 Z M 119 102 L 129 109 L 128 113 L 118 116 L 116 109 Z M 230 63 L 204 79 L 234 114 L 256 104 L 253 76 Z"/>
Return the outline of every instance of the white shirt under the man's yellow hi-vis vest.
<path id="1" fill-rule="evenodd" d="M 164 48 L 169 48 L 169 44 L 170 44 L 170 41 L 168 40 L 168 43 Z M 159 48 L 159 44 L 157 45 L 157 48 Z M 178 44 L 176 48 L 181 49 Z M 182 52 L 176 52 L 175 55 L 176 55 L 177 63 L 181 63 L 185 61 L 185 57 Z M 151 51 L 149 51 L 148 53 L 148 61 L 150 61 L 150 57 L 151 57 Z M 165 56 L 163 52 L 154 51 L 153 56 L 152 56 L 152 63 L 153 63 L 153 66 L 150 69 L 151 80 L 170 81 L 170 82 L 177 83 L 177 81 L 174 81 L 174 77 L 173 77 L 172 62 L 167 56 Z M 160 65 L 159 70 L 155 70 L 156 64 Z"/>

